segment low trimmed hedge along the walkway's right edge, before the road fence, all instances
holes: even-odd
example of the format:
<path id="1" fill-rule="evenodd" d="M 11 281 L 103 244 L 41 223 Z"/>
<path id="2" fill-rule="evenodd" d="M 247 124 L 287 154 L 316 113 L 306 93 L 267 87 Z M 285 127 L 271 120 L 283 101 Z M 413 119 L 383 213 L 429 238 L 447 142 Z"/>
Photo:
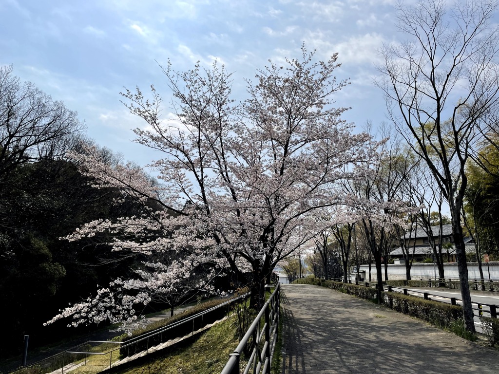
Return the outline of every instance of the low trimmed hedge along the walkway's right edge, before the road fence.
<path id="1" fill-rule="evenodd" d="M 390 281 L 389 281 L 390 282 Z M 357 296 L 362 299 L 375 300 L 376 289 L 355 284 L 326 281 L 319 278 L 297 279 L 293 283 L 313 284 L 316 286 L 327 287 L 349 295 Z M 425 300 L 415 296 L 403 295 L 395 292 L 383 292 L 382 299 L 389 308 L 427 321 L 440 328 L 448 328 L 455 320 L 463 316 L 463 309 L 459 305 L 440 303 L 432 300 Z"/>

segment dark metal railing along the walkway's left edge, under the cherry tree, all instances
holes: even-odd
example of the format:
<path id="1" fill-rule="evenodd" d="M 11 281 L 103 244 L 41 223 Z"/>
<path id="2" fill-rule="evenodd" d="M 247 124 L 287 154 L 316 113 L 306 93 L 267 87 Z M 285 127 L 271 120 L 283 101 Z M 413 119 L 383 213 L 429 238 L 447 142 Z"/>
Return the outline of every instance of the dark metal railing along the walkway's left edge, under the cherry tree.
<path id="1" fill-rule="evenodd" d="M 269 287 L 269 286 L 266 286 Z M 272 359 L 277 342 L 278 326 L 279 326 L 279 305 L 280 305 L 280 287 L 279 283 L 275 285 L 275 290 L 272 292 L 267 302 L 260 309 L 258 315 L 251 323 L 250 328 L 245 336 L 239 342 L 238 347 L 233 353 L 229 355 L 229 361 L 225 365 L 221 374 L 239 374 L 241 361 L 240 357 L 245 348 L 251 341 L 251 355 L 248 365 L 244 370 L 244 374 L 248 374 L 251 366 L 253 367 L 253 374 L 262 373 L 269 374 L 272 365 Z M 261 319 L 264 317 L 264 324 L 261 327 Z M 260 345 L 263 341 L 263 346 Z"/>

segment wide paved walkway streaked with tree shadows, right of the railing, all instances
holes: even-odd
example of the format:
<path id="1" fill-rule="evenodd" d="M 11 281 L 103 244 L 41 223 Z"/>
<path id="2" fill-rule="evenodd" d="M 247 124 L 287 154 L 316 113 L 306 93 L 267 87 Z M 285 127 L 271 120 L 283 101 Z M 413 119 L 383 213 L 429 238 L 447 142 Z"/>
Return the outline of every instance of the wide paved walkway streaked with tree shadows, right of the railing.
<path id="1" fill-rule="evenodd" d="M 286 374 L 499 373 L 499 354 L 324 287 L 281 285 Z"/>

